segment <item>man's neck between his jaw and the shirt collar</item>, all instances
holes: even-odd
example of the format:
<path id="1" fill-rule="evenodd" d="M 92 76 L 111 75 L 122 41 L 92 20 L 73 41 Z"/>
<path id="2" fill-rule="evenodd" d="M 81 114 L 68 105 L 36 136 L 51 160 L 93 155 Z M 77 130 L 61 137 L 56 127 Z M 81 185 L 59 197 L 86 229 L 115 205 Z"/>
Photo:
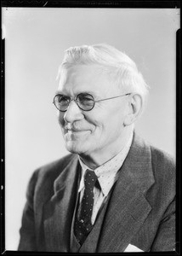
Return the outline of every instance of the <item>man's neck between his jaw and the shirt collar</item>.
<path id="1" fill-rule="evenodd" d="M 91 169 L 96 169 L 102 166 L 108 160 L 115 157 L 128 143 L 130 136 L 132 135 L 133 129 L 128 129 L 128 131 L 122 135 L 121 139 L 117 140 L 117 143 L 110 144 L 109 147 L 96 151 L 92 154 L 80 154 L 80 158 Z"/>

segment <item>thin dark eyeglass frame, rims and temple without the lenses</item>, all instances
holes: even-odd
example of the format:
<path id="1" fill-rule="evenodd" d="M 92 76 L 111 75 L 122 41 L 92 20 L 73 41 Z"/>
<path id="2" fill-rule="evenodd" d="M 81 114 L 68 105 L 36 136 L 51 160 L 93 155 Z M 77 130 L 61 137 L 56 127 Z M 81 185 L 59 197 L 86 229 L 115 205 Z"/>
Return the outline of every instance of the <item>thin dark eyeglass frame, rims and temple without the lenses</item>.
<path id="1" fill-rule="evenodd" d="M 82 95 L 82 94 L 86 94 L 86 95 L 88 95 L 88 96 L 92 96 L 92 95 L 89 94 L 89 93 L 79 93 L 79 94 L 78 94 L 77 96 L 75 96 L 75 98 L 73 98 L 73 99 L 71 99 L 71 97 L 70 97 L 68 107 L 69 107 L 71 101 L 74 101 L 74 102 L 76 102 L 77 107 L 80 108 L 82 111 L 87 111 L 87 112 L 88 112 L 88 111 L 91 111 L 91 110 L 94 108 L 94 106 L 93 106 L 91 109 L 89 109 L 89 110 L 85 110 L 85 109 L 82 109 L 82 108 L 78 105 L 78 103 L 77 103 L 77 98 L 78 98 L 78 96 L 80 96 L 80 95 Z M 123 94 L 123 95 L 113 96 L 113 97 L 101 99 L 101 100 L 98 100 L 98 101 L 95 101 L 95 100 L 94 100 L 94 96 L 92 96 L 92 98 L 93 98 L 93 102 L 94 102 L 94 105 L 95 105 L 96 102 L 103 102 L 103 101 L 115 99 L 115 98 L 122 97 L 122 96 L 128 96 L 128 95 L 130 95 L 130 94 L 132 94 L 132 93 L 129 92 L 129 93 L 126 93 L 126 94 Z M 56 96 L 61 96 L 61 94 L 56 94 L 56 95 L 54 96 L 54 98 L 55 98 Z M 64 95 L 63 95 L 63 96 L 64 96 Z M 54 104 L 55 108 L 57 108 L 57 107 L 56 107 L 56 104 L 55 104 L 55 102 L 54 102 L 54 100 L 53 100 L 53 104 Z M 60 110 L 59 108 L 57 108 L 57 109 L 58 109 L 60 112 L 66 112 L 67 109 L 68 109 L 68 107 L 67 107 L 65 110 Z"/>

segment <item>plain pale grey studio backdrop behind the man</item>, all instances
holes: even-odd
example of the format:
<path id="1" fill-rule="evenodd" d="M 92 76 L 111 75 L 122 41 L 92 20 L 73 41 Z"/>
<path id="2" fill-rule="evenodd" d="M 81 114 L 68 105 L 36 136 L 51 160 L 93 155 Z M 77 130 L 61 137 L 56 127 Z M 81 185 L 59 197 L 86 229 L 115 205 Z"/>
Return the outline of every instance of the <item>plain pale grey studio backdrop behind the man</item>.
<path id="1" fill-rule="evenodd" d="M 175 156 L 179 9 L 4 8 L 6 250 L 17 250 L 26 187 L 65 150 L 53 105 L 64 50 L 106 43 L 128 54 L 150 89 L 136 131 Z"/>

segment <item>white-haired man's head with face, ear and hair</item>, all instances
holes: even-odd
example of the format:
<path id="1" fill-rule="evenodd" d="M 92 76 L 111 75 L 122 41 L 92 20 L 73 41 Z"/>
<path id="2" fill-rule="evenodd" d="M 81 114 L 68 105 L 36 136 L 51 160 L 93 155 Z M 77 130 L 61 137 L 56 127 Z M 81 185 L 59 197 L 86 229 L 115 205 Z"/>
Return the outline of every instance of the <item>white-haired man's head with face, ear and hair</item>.
<path id="1" fill-rule="evenodd" d="M 145 81 L 134 61 L 106 44 L 72 47 L 65 51 L 59 76 L 56 94 L 62 96 L 57 96 L 56 101 L 66 105 L 58 115 L 65 147 L 92 157 L 117 154 L 147 95 Z M 108 99 L 111 97 L 114 98 Z M 85 102 L 94 107 L 88 111 L 89 106 L 83 106 Z"/>

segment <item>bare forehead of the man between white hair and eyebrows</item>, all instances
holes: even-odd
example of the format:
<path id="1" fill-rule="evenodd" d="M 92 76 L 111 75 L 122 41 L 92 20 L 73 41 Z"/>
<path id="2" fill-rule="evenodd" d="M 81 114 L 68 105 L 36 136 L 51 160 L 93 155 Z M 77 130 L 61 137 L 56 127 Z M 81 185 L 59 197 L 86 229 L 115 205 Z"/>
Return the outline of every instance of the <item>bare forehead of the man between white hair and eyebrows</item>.
<path id="1" fill-rule="evenodd" d="M 116 87 L 113 79 L 110 79 L 103 68 L 96 64 L 63 69 L 59 84 L 59 90 L 73 95 L 83 91 L 92 92 L 95 95 L 100 95 L 102 92 L 103 95 L 104 92 L 115 90 Z"/>

